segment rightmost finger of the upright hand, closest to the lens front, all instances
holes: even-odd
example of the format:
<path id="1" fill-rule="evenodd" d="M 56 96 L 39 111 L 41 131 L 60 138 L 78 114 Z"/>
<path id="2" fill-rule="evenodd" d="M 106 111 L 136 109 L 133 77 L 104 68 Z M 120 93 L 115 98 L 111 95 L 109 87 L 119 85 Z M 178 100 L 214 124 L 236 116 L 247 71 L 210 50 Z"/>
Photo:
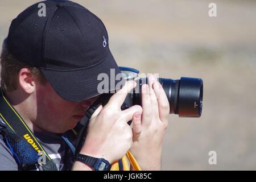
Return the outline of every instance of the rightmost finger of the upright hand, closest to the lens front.
<path id="1" fill-rule="evenodd" d="M 159 110 L 159 118 L 162 122 L 168 122 L 169 114 L 170 114 L 170 104 L 168 98 L 166 96 L 166 92 L 162 85 L 159 82 L 154 83 L 154 91 L 158 96 L 158 110 Z M 167 123 L 164 123 L 167 124 Z"/>

